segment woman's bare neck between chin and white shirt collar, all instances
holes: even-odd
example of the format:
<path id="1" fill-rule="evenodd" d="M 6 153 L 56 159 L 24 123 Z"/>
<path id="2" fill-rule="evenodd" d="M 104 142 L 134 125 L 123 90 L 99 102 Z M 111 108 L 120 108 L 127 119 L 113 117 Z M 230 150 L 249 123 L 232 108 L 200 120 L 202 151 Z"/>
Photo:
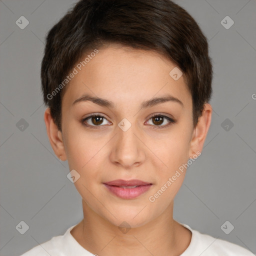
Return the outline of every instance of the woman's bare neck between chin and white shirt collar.
<path id="1" fill-rule="evenodd" d="M 98 255 L 180 255 L 191 239 L 190 230 L 172 217 L 173 202 L 154 220 L 126 230 L 102 218 L 83 200 L 82 207 L 84 218 L 71 234 Z"/>

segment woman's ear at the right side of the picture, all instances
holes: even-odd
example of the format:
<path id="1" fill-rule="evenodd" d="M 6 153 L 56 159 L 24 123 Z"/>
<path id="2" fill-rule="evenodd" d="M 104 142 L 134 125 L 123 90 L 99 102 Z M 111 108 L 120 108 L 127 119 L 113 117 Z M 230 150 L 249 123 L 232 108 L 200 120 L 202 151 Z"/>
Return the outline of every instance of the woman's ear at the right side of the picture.
<path id="1" fill-rule="evenodd" d="M 210 126 L 211 113 L 212 113 L 211 105 L 209 103 L 205 103 L 203 108 L 203 113 L 198 119 L 198 123 L 193 130 L 192 138 L 190 141 L 189 155 L 191 158 L 193 158 L 193 155 L 195 154 L 195 152 L 202 151 L 203 143 Z"/>

